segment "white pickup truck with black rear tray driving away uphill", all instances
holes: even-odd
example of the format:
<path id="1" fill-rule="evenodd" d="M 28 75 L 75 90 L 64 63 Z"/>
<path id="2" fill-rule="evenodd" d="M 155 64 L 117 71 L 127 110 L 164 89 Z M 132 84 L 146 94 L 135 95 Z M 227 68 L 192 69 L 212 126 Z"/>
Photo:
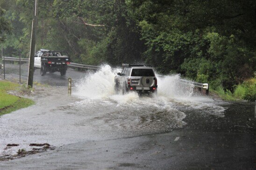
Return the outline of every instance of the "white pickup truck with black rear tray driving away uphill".
<path id="1" fill-rule="evenodd" d="M 47 72 L 56 71 L 63 76 L 66 74 L 68 64 L 70 64 L 70 57 L 67 52 L 41 49 L 35 55 L 34 69 L 40 68 L 42 76 Z"/>

